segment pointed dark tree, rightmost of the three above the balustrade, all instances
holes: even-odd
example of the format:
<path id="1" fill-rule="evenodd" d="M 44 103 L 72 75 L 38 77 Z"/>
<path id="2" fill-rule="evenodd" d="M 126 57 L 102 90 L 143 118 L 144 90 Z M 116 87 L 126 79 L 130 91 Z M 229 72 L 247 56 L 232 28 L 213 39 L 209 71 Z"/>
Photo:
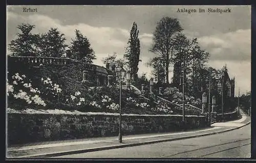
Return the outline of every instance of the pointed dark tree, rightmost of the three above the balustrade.
<path id="1" fill-rule="evenodd" d="M 75 30 L 75 35 L 76 37 L 72 39 L 70 46 L 72 58 L 86 63 L 92 63 L 92 60 L 96 58 L 89 39 L 83 36 L 79 30 Z"/>

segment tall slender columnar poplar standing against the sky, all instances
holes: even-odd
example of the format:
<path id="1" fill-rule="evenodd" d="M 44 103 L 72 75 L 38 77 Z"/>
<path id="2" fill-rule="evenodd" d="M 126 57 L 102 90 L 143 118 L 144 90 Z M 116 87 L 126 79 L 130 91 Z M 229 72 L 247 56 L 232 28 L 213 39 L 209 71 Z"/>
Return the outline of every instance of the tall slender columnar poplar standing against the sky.
<path id="1" fill-rule="evenodd" d="M 130 38 L 128 41 L 128 46 L 126 48 L 126 53 L 124 58 L 128 61 L 129 68 L 131 70 L 131 79 L 136 81 L 138 78 L 138 65 L 140 57 L 140 40 L 139 40 L 139 30 L 137 24 L 133 22 L 133 27 L 130 31 Z"/>

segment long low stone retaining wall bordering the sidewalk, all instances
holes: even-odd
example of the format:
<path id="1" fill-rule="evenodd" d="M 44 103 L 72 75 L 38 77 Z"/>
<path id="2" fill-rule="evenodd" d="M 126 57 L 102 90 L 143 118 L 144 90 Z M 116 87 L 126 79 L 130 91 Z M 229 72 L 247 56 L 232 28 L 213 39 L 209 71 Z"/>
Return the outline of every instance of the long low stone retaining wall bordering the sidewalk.
<path id="1" fill-rule="evenodd" d="M 206 127 L 204 116 L 123 115 L 123 135 Z M 118 115 L 8 113 L 8 146 L 42 141 L 117 136 Z"/>

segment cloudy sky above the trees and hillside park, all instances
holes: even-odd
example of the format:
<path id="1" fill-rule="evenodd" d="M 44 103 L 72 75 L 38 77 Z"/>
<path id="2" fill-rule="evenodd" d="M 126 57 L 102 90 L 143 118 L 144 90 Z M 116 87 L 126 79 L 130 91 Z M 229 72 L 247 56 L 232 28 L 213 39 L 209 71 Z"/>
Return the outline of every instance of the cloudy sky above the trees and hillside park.
<path id="1" fill-rule="evenodd" d="M 23 12 L 36 9 L 36 12 Z M 199 12 L 199 8 L 205 12 Z M 207 12 L 211 9 L 230 9 L 228 13 Z M 196 9 L 197 12 L 177 12 Z M 138 25 L 141 43 L 139 72 L 151 77 L 146 66 L 154 53 L 152 45 L 157 22 L 165 16 L 177 18 L 189 39 L 198 38 L 201 49 L 209 52 L 208 65 L 220 69 L 227 65 L 229 77 L 235 77 L 236 95 L 251 90 L 251 7 L 250 6 L 7 6 L 7 43 L 15 39 L 22 23 L 35 25 L 32 33 L 45 33 L 57 28 L 65 34 L 69 44 L 75 29 L 86 36 L 95 51 L 94 64 L 102 65 L 102 58 L 125 52 L 133 22 Z M 7 50 L 8 53 L 8 50 Z M 170 77 L 173 67 L 170 67 Z M 171 80 L 171 79 L 169 79 Z"/>

